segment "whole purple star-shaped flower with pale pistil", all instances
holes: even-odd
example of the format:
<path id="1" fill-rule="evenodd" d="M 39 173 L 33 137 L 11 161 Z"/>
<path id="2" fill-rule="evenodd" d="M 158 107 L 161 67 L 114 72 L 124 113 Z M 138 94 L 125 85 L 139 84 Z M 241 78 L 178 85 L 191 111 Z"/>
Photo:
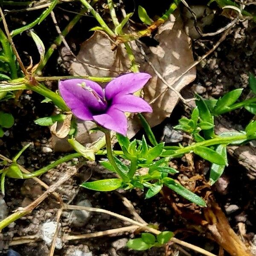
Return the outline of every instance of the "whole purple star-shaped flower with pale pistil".
<path id="1" fill-rule="evenodd" d="M 147 102 L 133 95 L 150 78 L 146 73 L 129 73 L 110 81 L 104 90 L 90 80 L 70 79 L 59 82 L 59 92 L 77 118 L 126 135 L 124 112 L 152 112 Z"/>

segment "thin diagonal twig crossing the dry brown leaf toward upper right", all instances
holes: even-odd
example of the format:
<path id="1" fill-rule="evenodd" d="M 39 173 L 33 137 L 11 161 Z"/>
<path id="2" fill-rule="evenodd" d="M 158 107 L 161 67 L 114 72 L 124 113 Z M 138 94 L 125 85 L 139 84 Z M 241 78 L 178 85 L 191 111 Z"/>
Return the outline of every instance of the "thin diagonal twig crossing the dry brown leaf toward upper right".
<path id="1" fill-rule="evenodd" d="M 189 70 L 191 70 L 193 67 L 197 66 L 202 60 L 204 60 L 205 58 L 207 58 L 212 52 L 215 51 L 216 48 L 218 48 L 218 46 L 221 44 L 221 42 L 223 42 L 227 36 L 227 34 L 230 32 L 232 27 L 230 27 L 229 29 L 227 29 L 223 35 L 221 36 L 221 38 L 219 39 L 219 41 L 212 47 L 212 49 L 210 49 L 205 55 L 203 55 L 202 57 L 198 58 L 197 61 L 194 61 L 180 76 L 178 76 L 176 79 L 174 79 L 174 81 L 172 81 L 171 84 L 169 84 L 169 86 L 172 86 L 173 84 L 175 84 L 177 81 L 180 80 L 181 77 L 183 77 L 187 72 L 189 72 Z M 166 93 L 166 91 L 169 90 L 169 88 L 166 88 L 166 90 L 163 90 L 162 93 L 160 93 L 156 98 L 154 98 L 150 104 L 154 103 L 160 96 L 163 95 L 163 93 Z"/>

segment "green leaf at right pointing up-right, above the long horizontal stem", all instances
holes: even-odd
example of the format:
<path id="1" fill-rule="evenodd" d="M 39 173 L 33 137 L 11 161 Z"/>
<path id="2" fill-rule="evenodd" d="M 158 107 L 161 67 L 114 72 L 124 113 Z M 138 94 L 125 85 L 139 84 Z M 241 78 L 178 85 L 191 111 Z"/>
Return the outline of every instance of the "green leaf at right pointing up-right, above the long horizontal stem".
<path id="1" fill-rule="evenodd" d="M 226 93 L 220 99 L 218 99 L 214 108 L 214 113 L 216 115 L 220 115 L 221 113 L 226 112 L 229 109 L 229 107 L 238 100 L 242 91 L 243 91 L 242 88 L 232 90 L 229 93 Z"/>

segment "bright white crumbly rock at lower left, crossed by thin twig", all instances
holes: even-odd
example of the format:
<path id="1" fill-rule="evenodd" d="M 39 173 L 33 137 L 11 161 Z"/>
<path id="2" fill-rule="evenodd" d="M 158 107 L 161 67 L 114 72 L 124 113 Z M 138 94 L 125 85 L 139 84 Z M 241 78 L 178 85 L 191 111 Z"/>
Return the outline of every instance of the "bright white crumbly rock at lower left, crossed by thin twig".
<path id="1" fill-rule="evenodd" d="M 41 239 L 43 239 L 48 246 L 51 246 L 52 239 L 57 228 L 56 221 L 50 221 L 43 223 L 40 227 L 41 229 Z M 59 237 L 56 239 L 55 248 L 60 250 L 62 248 L 62 241 Z"/>

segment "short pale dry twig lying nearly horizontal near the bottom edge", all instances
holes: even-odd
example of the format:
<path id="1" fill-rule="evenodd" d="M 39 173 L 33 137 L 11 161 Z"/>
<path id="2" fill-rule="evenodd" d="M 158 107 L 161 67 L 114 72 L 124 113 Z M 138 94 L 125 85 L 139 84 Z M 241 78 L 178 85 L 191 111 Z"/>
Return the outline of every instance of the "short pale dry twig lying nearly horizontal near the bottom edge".
<path id="1" fill-rule="evenodd" d="M 94 233 L 89 233 L 89 234 L 82 234 L 82 235 L 77 235 L 77 236 L 64 236 L 64 239 L 67 241 L 70 240 L 76 240 L 76 239 L 88 239 L 88 238 L 93 238 L 93 237 L 99 237 L 99 236 L 108 236 L 116 233 L 123 233 L 123 232 L 131 232 L 133 230 L 138 229 L 139 226 L 137 225 L 132 225 L 128 227 L 119 227 L 119 228 L 114 228 L 111 230 L 104 230 L 104 231 L 99 231 L 99 232 L 94 232 Z"/>

